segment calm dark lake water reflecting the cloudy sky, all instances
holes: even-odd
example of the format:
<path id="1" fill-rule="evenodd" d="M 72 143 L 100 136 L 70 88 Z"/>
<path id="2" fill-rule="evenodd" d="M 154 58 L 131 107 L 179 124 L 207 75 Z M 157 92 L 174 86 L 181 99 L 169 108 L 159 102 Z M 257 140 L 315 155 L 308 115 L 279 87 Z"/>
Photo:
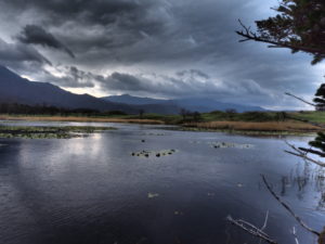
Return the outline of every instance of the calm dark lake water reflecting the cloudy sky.
<path id="1" fill-rule="evenodd" d="M 316 243 L 260 174 L 309 226 L 325 226 L 325 174 L 284 153 L 283 139 L 140 125 L 31 125 L 119 129 L 67 140 L 0 139 L 1 244 L 259 243 L 225 218 L 261 227 L 268 210 L 265 231 L 278 243 L 295 243 L 292 227 L 300 243 Z M 286 140 L 306 145 L 309 139 Z M 253 146 L 211 146 L 218 142 Z M 171 149 L 177 153 L 168 156 L 131 155 Z"/>

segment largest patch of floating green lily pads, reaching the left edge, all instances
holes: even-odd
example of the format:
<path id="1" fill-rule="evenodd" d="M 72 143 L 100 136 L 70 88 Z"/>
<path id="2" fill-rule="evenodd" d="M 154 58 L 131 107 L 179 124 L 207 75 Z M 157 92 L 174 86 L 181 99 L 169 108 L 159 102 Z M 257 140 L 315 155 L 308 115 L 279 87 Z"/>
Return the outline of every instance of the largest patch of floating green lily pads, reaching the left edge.
<path id="1" fill-rule="evenodd" d="M 113 127 L 65 126 L 65 127 L 36 127 L 36 126 L 0 126 L 0 138 L 24 139 L 70 139 L 84 137 Z"/>

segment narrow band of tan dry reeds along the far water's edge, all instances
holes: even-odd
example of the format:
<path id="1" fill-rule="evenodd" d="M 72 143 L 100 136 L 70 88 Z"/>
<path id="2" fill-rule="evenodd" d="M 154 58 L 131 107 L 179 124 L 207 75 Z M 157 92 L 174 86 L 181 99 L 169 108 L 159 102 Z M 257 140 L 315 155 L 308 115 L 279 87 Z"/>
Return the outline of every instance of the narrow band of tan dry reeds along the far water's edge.
<path id="1" fill-rule="evenodd" d="M 76 123 L 121 123 L 139 125 L 170 125 L 179 131 L 226 132 L 243 136 L 314 136 L 324 129 L 297 121 L 200 121 L 184 124 L 167 124 L 159 119 L 122 118 L 122 117 L 82 117 L 82 116 L 26 116 L 0 115 L 3 121 L 76 121 Z M 32 127 L 32 126 L 30 126 Z"/>

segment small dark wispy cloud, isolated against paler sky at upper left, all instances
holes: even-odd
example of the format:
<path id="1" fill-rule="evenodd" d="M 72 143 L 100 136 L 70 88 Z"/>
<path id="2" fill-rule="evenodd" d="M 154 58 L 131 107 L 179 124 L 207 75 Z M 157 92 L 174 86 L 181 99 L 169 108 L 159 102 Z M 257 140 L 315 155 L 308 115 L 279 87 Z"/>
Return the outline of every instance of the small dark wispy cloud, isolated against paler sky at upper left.
<path id="1" fill-rule="evenodd" d="M 58 41 L 51 33 L 44 30 L 41 26 L 26 25 L 22 33 L 17 36 L 17 39 L 27 44 L 41 44 L 48 48 L 60 49 L 65 51 L 72 57 L 75 57 L 72 50 Z"/>

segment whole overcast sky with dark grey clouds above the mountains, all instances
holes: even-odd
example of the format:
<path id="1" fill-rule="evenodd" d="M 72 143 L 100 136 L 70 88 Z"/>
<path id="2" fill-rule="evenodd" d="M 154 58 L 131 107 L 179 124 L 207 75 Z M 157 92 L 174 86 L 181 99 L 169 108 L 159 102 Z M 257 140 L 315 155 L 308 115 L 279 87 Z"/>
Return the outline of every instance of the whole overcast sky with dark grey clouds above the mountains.
<path id="1" fill-rule="evenodd" d="M 0 64 L 36 81 L 96 97 L 209 97 L 298 108 L 325 65 L 238 43 L 237 20 L 273 15 L 261 0 L 0 0 Z"/>

